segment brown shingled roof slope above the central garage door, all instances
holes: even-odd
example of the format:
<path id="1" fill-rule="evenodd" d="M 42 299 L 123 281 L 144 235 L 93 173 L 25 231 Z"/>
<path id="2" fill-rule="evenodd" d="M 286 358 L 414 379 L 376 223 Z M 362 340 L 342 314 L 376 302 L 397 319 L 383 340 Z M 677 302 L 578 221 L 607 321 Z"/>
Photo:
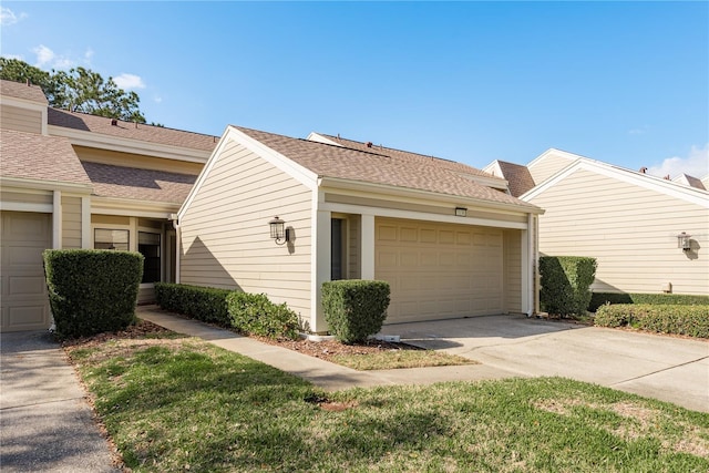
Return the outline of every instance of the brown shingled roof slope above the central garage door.
<path id="1" fill-rule="evenodd" d="M 459 163 L 431 160 L 430 157 L 421 157 L 422 155 L 410 158 L 410 156 L 403 156 L 400 153 L 387 153 L 376 147 L 360 150 L 239 126 L 235 126 L 235 128 L 310 169 L 320 177 L 335 177 L 428 191 L 491 203 L 530 206 L 530 204 L 503 192 L 461 176 L 462 173 L 458 171 L 456 166 Z M 465 167 L 474 169 L 470 166 Z M 482 174 L 493 178 L 486 173 Z"/>

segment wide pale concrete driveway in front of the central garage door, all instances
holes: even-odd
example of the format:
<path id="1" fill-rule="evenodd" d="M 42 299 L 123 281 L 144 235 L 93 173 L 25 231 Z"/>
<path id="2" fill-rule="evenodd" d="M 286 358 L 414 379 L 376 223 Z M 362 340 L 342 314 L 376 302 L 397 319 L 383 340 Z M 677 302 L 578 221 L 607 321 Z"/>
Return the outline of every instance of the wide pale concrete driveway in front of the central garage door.
<path id="1" fill-rule="evenodd" d="M 401 341 L 521 377 L 558 376 L 709 412 L 709 341 L 525 316 L 384 326 Z"/>

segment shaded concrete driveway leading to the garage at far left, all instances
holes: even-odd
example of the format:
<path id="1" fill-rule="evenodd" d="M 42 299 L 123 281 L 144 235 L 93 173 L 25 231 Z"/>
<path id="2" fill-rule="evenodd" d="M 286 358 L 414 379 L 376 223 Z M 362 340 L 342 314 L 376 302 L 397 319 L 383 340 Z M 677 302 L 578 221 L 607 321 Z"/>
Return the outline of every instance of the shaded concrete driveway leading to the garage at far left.
<path id="1" fill-rule="evenodd" d="M 73 368 L 47 331 L 0 337 L 0 471 L 119 472 Z"/>

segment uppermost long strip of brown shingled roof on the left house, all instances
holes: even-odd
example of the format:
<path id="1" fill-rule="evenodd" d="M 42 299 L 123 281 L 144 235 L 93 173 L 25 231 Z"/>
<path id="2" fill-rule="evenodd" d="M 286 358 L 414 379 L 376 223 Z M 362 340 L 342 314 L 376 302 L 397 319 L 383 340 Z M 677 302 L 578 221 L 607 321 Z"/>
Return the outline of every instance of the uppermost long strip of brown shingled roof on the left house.
<path id="1" fill-rule="evenodd" d="M 164 126 L 124 122 L 122 120 L 59 109 L 49 109 L 48 123 L 54 126 L 106 136 L 207 152 L 213 151 L 219 141 L 218 136 L 166 128 Z"/>

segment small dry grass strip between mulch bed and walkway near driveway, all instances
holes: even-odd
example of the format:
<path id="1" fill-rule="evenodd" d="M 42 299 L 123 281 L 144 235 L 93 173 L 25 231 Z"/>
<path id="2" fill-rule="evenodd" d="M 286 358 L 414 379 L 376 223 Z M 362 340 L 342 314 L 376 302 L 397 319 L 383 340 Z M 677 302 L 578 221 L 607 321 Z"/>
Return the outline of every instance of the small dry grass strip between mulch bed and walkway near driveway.
<path id="1" fill-rule="evenodd" d="M 477 361 L 434 350 L 389 350 L 356 356 L 338 354 L 330 361 L 359 371 L 477 364 Z"/>

